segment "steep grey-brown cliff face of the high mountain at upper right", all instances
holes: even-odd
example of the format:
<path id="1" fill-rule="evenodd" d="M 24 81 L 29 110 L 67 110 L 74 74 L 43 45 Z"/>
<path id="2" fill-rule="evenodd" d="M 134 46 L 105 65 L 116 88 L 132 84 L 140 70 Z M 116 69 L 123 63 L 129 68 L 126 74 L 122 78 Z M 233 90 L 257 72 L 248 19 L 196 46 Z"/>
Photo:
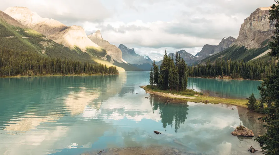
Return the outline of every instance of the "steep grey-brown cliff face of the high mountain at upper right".
<path id="1" fill-rule="evenodd" d="M 245 46 L 247 49 L 266 46 L 275 31 L 275 23 L 269 22 L 270 7 L 257 8 L 241 25 L 239 36 L 234 45 Z"/>

